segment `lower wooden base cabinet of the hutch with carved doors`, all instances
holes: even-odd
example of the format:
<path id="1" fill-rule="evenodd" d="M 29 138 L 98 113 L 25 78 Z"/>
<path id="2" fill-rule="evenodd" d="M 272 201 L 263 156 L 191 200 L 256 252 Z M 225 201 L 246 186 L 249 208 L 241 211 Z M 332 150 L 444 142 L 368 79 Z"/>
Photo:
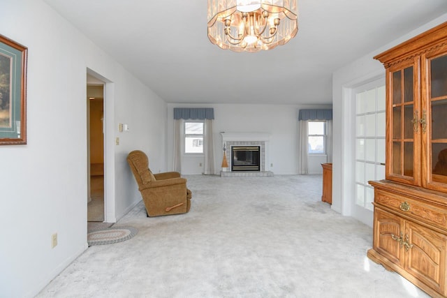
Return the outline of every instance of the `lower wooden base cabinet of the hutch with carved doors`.
<path id="1" fill-rule="evenodd" d="M 437 192 L 390 181 L 374 186 L 373 247 L 368 257 L 397 271 L 432 297 L 447 296 L 447 209 Z M 427 201 L 425 201 L 427 200 Z"/>

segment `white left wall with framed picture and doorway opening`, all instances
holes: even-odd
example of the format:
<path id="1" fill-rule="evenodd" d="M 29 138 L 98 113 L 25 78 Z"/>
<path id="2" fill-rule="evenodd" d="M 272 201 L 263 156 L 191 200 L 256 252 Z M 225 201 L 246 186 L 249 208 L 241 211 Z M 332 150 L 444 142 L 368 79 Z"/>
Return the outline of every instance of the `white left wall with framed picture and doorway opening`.
<path id="1" fill-rule="evenodd" d="M 128 151 L 149 151 L 166 168 L 166 104 L 41 0 L 2 0 L 0 28 L 29 49 L 28 144 L 0 147 L 0 297 L 33 297 L 87 248 L 87 68 L 112 82 L 116 218 L 139 200 Z"/>

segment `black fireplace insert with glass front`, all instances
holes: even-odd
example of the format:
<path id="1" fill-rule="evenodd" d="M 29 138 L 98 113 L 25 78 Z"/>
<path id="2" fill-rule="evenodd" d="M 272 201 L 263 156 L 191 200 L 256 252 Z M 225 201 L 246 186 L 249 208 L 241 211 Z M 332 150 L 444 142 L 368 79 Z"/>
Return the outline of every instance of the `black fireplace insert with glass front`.
<path id="1" fill-rule="evenodd" d="M 259 146 L 232 146 L 231 171 L 260 171 L 260 151 Z"/>

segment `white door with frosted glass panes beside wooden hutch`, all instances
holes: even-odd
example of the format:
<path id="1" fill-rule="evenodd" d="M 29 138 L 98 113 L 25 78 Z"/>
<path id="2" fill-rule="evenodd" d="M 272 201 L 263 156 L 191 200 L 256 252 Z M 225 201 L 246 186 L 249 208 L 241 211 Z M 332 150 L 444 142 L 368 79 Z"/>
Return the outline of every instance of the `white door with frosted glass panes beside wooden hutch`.
<path id="1" fill-rule="evenodd" d="M 356 103 L 353 216 L 359 218 L 372 216 L 374 188 L 368 181 L 385 179 L 385 82 L 378 80 L 353 91 Z"/>

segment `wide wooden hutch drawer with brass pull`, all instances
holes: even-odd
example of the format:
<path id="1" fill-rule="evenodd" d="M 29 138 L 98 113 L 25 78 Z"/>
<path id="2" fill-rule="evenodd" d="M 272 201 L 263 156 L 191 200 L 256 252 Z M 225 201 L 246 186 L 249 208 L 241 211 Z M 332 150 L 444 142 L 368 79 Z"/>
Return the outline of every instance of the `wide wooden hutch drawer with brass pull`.
<path id="1" fill-rule="evenodd" d="M 447 229 L 447 211 L 431 204 L 411 200 L 404 195 L 388 193 L 382 190 L 376 190 L 374 202 L 398 211 L 400 214 Z"/>

